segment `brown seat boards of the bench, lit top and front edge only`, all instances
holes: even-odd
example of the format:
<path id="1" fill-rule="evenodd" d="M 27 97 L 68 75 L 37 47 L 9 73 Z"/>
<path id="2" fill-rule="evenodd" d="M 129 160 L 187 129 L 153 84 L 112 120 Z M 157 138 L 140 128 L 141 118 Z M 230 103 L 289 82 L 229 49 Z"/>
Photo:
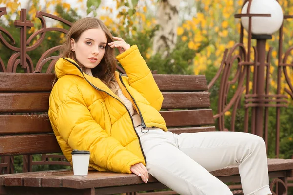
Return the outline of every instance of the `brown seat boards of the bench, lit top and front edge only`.
<path id="1" fill-rule="evenodd" d="M 268 159 L 268 171 L 277 172 L 293 169 L 293 159 Z M 239 174 L 238 165 L 232 165 L 211 172 L 214 176 L 234 176 Z M 42 182 L 41 182 L 42 181 Z M 150 175 L 149 183 L 157 182 Z M 123 186 L 143 183 L 134 174 L 89 171 L 88 176 L 74 176 L 70 170 L 42 171 L 20 174 L 0 175 L 0 185 L 6 186 L 38 186 L 38 187 L 67 187 L 92 188 Z"/>

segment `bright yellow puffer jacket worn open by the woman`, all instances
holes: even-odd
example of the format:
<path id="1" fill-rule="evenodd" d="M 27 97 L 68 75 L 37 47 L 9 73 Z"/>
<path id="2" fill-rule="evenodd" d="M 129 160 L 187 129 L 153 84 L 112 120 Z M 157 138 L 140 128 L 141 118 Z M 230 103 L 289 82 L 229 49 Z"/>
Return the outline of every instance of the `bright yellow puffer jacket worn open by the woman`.
<path id="1" fill-rule="evenodd" d="M 128 77 L 115 72 L 123 94 L 132 101 L 142 126 L 167 131 L 160 115 L 163 96 L 136 45 L 116 57 Z M 73 149 L 89 150 L 89 167 L 131 173 L 130 166 L 146 165 L 131 117 L 122 101 L 100 79 L 82 73 L 73 59 L 55 65 L 58 81 L 49 101 L 50 122 L 67 160 Z M 132 99 L 132 98 L 133 99 Z"/>

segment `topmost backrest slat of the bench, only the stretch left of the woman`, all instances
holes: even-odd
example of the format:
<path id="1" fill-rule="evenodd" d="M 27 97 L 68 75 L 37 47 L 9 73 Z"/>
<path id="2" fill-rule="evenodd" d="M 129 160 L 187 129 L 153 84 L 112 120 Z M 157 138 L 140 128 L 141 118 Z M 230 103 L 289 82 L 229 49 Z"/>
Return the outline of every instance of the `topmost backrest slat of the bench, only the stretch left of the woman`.
<path id="1" fill-rule="evenodd" d="M 50 92 L 54 74 L 0 73 L 0 92 Z"/>

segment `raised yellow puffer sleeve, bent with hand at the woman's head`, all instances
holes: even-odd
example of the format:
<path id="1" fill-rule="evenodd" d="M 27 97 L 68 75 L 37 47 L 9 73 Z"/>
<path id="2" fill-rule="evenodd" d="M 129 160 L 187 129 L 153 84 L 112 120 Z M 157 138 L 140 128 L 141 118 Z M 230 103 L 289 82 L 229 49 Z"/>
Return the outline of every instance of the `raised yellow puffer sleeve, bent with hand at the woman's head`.
<path id="1" fill-rule="evenodd" d="M 129 77 L 129 85 L 146 98 L 152 107 L 160 111 L 164 99 L 163 95 L 137 46 L 132 45 L 128 50 L 119 54 L 116 59 Z"/>

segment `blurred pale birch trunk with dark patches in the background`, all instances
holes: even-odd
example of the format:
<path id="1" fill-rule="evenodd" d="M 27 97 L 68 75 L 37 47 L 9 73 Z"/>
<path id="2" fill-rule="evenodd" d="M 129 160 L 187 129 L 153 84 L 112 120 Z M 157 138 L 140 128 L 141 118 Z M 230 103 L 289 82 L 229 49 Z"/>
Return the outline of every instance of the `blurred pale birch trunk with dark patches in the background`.
<path id="1" fill-rule="evenodd" d="M 158 0 L 157 21 L 159 30 L 153 42 L 153 55 L 162 52 L 166 57 L 177 42 L 178 12 L 180 0 Z"/>

